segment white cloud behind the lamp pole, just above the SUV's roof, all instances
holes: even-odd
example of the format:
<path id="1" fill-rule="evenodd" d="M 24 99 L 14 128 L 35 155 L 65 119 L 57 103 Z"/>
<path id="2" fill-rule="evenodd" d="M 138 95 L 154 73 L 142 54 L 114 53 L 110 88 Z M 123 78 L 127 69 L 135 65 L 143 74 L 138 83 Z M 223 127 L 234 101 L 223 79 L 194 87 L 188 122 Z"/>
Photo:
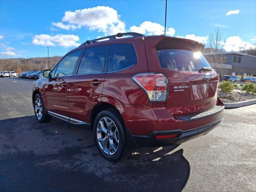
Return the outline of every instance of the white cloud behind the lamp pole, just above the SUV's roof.
<path id="1" fill-rule="evenodd" d="M 130 27 L 131 32 L 137 32 L 141 34 L 148 34 L 148 35 L 162 35 L 164 34 L 164 26 L 153 23 L 151 21 L 144 21 L 140 26 L 131 26 Z M 175 34 L 174 28 L 168 28 L 166 30 L 166 34 L 173 36 Z"/>

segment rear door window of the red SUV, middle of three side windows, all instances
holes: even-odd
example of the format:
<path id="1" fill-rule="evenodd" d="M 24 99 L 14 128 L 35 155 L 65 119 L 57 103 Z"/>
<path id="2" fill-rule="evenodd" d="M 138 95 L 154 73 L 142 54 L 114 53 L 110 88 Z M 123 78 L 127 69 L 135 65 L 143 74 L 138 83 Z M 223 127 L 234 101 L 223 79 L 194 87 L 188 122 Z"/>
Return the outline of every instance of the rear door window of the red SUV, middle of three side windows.
<path id="1" fill-rule="evenodd" d="M 108 46 L 87 48 L 84 52 L 77 74 L 104 72 Z"/>

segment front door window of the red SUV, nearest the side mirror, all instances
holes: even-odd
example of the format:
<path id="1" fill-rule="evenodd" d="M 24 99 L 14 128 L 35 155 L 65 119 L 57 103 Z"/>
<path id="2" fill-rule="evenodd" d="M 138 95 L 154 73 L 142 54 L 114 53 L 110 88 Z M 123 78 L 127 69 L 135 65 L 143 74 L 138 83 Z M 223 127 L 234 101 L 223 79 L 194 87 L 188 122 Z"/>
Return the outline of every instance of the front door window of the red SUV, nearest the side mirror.
<path id="1" fill-rule="evenodd" d="M 80 54 L 82 53 L 82 49 L 72 52 L 64 57 L 58 64 L 54 77 L 62 77 L 71 75 Z"/>

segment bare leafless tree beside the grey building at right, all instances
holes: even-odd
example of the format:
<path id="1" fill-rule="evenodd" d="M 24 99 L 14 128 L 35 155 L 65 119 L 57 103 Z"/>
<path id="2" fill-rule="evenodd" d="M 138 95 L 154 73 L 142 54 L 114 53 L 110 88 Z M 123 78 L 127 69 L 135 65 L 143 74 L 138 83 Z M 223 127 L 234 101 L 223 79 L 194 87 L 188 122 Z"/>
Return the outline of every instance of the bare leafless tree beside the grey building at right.
<path id="1" fill-rule="evenodd" d="M 226 39 L 223 36 L 223 32 L 221 32 L 219 27 L 214 29 L 213 33 L 210 33 L 208 39 L 208 46 L 212 48 L 213 54 L 206 56 L 208 62 L 218 72 L 220 76 L 223 76 L 225 73 L 225 69 L 223 68 L 223 64 L 226 62 L 226 57 L 222 54 L 224 52 L 224 45 Z"/>

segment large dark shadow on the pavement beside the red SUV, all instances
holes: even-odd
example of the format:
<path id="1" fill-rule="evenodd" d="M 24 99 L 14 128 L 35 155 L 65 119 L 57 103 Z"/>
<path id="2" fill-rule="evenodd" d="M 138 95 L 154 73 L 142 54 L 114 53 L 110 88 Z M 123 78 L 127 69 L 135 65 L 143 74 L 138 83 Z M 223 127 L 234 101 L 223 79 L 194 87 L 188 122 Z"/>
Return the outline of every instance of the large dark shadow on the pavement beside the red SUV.
<path id="1" fill-rule="evenodd" d="M 182 191 L 190 164 L 178 146 L 137 148 L 119 162 L 100 156 L 89 127 L 34 116 L 0 121 L 5 190 Z"/>

